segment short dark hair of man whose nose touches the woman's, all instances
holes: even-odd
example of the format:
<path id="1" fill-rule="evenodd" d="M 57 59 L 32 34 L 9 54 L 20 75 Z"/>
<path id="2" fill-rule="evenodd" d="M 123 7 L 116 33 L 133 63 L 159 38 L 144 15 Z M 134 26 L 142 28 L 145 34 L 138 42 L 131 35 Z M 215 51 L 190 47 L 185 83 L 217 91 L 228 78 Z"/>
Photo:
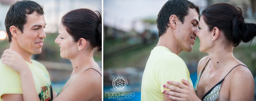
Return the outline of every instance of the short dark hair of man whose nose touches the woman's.
<path id="1" fill-rule="evenodd" d="M 184 23 L 184 17 L 188 15 L 189 8 L 196 9 L 199 15 L 199 7 L 194 3 L 187 0 L 168 0 L 157 16 L 157 28 L 159 37 L 166 32 L 168 24 L 170 24 L 169 18 L 171 15 L 176 15 L 181 23 Z"/>

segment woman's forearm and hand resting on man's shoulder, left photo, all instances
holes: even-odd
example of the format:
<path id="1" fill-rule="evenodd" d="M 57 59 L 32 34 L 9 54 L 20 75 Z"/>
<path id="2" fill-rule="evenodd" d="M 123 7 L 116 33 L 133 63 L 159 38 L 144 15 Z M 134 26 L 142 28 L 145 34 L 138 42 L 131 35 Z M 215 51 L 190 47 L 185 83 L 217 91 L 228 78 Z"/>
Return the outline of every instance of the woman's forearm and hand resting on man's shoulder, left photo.
<path id="1" fill-rule="evenodd" d="M 32 73 L 28 65 L 23 61 L 22 56 L 16 51 L 7 49 L 3 52 L 2 63 L 11 67 L 20 75 L 23 100 L 40 101 L 36 93 Z"/>

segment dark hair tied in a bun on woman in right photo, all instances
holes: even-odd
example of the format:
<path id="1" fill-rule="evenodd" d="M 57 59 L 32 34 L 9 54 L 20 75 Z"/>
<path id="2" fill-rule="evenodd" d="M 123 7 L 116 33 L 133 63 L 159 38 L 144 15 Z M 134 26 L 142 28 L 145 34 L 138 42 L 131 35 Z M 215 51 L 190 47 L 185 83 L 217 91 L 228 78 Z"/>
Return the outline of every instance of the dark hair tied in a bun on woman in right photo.
<path id="1" fill-rule="evenodd" d="M 241 8 L 235 8 L 227 3 L 218 3 L 203 10 L 202 16 L 209 30 L 218 27 L 234 47 L 241 41 L 252 41 L 256 36 L 256 24 L 245 23 Z"/>

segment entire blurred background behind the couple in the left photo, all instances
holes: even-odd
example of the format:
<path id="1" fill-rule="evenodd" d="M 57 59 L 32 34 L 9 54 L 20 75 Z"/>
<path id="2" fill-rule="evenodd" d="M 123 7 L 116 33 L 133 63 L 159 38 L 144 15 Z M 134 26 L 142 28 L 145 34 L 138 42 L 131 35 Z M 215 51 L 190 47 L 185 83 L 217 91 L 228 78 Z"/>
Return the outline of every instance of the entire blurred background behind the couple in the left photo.
<path id="1" fill-rule="evenodd" d="M 61 17 L 70 10 L 77 8 L 88 8 L 93 11 L 99 11 L 102 14 L 101 0 L 32 0 L 43 6 L 44 17 L 46 20 L 46 38 L 44 39 L 44 46 L 42 53 L 32 55 L 33 60 L 42 63 L 48 70 L 52 88 L 54 91 L 59 90 L 66 83 L 67 79 L 72 73 L 72 65 L 68 59 L 60 57 L 60 47 L 54 42 L 58 36 L 58 28 Z M 16 0 L 0 0 L 0 56 L 3 51 L 10 47 L 7 41 L 5 30 L 5 16 L 9 7 L 15 3 Z M 102 68 L 102 52 L 94 52 L 94 60 Z"/>

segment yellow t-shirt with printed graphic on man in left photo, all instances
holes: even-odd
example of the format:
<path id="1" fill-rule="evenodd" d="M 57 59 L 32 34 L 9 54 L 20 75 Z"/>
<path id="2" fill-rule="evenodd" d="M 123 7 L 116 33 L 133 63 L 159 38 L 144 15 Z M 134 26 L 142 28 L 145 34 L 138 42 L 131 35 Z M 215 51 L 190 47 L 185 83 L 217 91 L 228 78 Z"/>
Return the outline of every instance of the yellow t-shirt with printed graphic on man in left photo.
<path id="1" fill-rule="evenodd" d="M 31 62 L 26 63 L 32 73 L 36 92 L 40 100 L 52 100 L 53 93 L 48 71 L 41 63 L 35 60 L 31 60 Z M 22 88 L 20 75 L 0 60 L 0 101 L 2 101 L 3 94 L 22 94 Z"/>

